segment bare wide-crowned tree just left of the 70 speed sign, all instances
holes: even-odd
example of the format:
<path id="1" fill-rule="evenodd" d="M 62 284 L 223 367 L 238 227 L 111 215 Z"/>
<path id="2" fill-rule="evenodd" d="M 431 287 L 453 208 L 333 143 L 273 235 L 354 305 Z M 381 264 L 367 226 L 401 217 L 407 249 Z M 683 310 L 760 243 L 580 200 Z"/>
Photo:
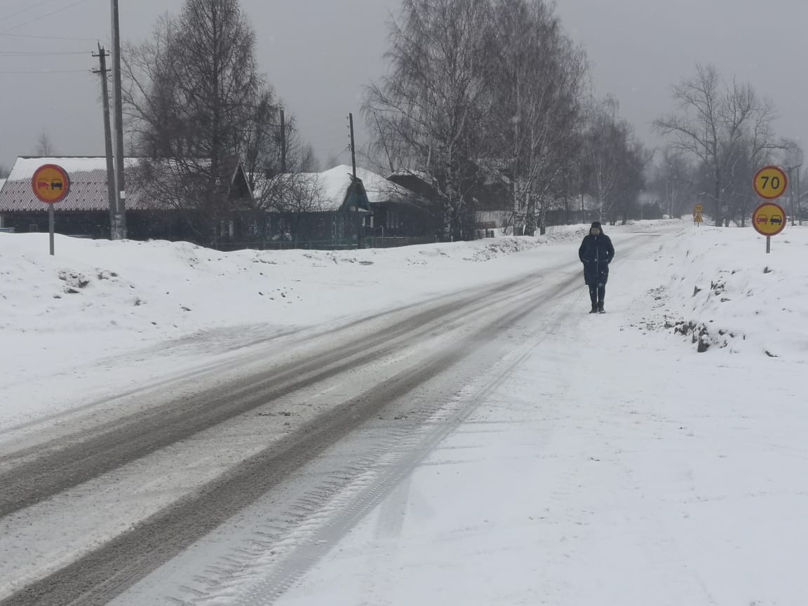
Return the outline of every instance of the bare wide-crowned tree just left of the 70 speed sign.
<path id="1" fill-rule="evenodd" d="M 712 181 L 708 195 L 715 223 L 722 225 L 730 212 L 726 196 L 738 162 L 754 164 L 761 154 L 781 147 L 772 141 L 772 104 L 760 100 L 749 84 L 734 78 L 725 84 L 713 65 L 696 65 L 696 75 L 674 86 L 673 97 L 678 112 L 654 124 L 676 148 L 703 162 Z"/>

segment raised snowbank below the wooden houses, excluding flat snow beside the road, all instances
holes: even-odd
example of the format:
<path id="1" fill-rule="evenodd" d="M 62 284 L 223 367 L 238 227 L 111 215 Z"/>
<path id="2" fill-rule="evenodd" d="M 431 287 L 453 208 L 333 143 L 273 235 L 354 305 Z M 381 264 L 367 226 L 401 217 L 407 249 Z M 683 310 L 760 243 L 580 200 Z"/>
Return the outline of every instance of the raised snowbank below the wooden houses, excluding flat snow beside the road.
<path id="1" fill-rule="evenodd" d="M 394 273 L 400 276 L 414 265 L 428 262 L 436 269 L 537 246 L 533 238 L 497 238 L 388 250 L 221 253 L 187 242 L 108 242 L 57 236 L 57 255 L 51 258 L 47 235 L 2 236 L 3 330 L 157 331 L 161 337 L 236 322 L 316 321 L 310 314 L 293 318 L 288 309 L 314 297 L 321 316 L 346 314 L 356 309 L 357 302 L 344 307 L 329 305 L 335 283 L 345 291 L 351 285 L 377 284 Z M 376 267 L 371 270 L 368 266 Z M 326 287 L 331 290 L 323 297 Z M 372 305 L 378 297 L 377 301 L 364 301 Z"/>

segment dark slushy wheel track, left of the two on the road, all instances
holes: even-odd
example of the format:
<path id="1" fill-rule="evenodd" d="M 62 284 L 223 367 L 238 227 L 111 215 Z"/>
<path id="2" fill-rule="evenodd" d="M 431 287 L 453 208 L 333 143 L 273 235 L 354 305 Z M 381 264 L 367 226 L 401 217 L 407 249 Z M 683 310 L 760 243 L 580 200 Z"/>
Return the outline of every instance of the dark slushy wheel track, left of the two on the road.
<path id="1" fill-rule="evenodd" d="M 93 436 L 72 436 L 0 457 L 0 469 L 6 468 L 0 472 L 0 518 L 312 383 L 372 364 L 437 330 L 441 324 L 457 322 L 486 305 L 507 301 L 515 296 L 512 291 L 518 286 L 511 283 L 494 292 L 486 289 L 488 297 L 482 297 L 482 303 L 475 293 L 427 309 L 390 326 L 384 334 L 364 336 L 337 351 L 284 364 L 255 377 L 246 386 L 243 381 L 233 381 L 191 398 L 168 402 L 156 410 L 116 419 L 104 424 Z M 432 326 L 436 322 L 438 326 Z"/>

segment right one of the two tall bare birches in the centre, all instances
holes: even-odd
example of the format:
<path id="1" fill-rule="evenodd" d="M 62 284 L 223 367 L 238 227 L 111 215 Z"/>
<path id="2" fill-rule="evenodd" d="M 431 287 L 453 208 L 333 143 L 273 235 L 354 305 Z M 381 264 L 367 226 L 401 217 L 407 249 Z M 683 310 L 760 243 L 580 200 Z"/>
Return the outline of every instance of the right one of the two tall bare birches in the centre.
<path id="1" fill-rule="evenodd" d="M 499 0 L 494 14 L 492 139 L 499 134 L 501 154 L 512 158 L 516 225 L 543 234 L 550 200 L 566 188 L 578 150 L 586 59 L 545 2 Z"/>

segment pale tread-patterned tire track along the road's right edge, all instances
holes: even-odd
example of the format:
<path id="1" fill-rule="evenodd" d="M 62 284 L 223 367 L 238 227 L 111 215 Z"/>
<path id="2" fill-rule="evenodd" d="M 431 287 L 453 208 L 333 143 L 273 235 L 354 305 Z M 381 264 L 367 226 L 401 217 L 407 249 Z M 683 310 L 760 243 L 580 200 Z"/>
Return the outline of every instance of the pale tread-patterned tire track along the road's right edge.
<path id="1" fill-rule="evenodd" d="M 576 276 L 578 280 L 578 276 Z M 565 284 L 564 292 L 569 284 Z M 541 301 L 544 302 L 544 301 Z M 535 311 L 537 301 L 528 304 L 528 309 L 516 312 L 511 318 L 518 322 L 525 315 Z M 321 501 L 318 511 L 305 518 L 305 523 L 298 524 L 292 530 L 284 532 L 283 527 L 274 534 L 274 539 L 267 548 L 254 557 L 234 557 L 220 562 L 217 570 L 208 570 L 204 576 L 204 585 L 196 586 L 187 595 L 172 595 L 169 603 L 183 606 L 271 606 L 284 593 L 302 579 L 317 563 L 342 539 L 351 528 L 355 528 L 368 514 L 389 503 L 391 494 L 399 490 L 411 478 L 415 469 L 423 463 L 457 427 L 460 427 L 474 410 L 486 401 L 511 373 L 520 367 L 532 351 L 549 335 L 558 330 L 558 316 L 562 310 L 549 314 L 541 327 L 534 330 L 533 336 L 541 332 L 543 335 L 535 339 L 527 351 L 518 356 L 510 356 L 499 372 L 494 374 L 484 385 L 471 393 L 458 398 L 447 408 L 431 410 L 423 419 L 417 419 L 397 431 L 393 431 L 385 439 L 377 443 L 365 457 L 363 463 L 376 461 L 372 469 L 364 469 L 350 483 L 343 486 L 330 499 Z M 402 494 L 402 500 L 406 499 Z M 402 505 L 389 503 L 385 507 L 388 516 L 381 516 L 379 532 L 393 532 L 402 528 Z M 293 511 L 301 511 L 295 506 Z M 215 574 L 211 574 L 215 573 Z M 373 586 L 372 573 L 364 574 L 364 581 L 369 583 L 366 595 L 377 595 Z M 197 594 L 196 592 L 200 592 Z M 373 604 L 377 604 L 374 602 Z"/>

